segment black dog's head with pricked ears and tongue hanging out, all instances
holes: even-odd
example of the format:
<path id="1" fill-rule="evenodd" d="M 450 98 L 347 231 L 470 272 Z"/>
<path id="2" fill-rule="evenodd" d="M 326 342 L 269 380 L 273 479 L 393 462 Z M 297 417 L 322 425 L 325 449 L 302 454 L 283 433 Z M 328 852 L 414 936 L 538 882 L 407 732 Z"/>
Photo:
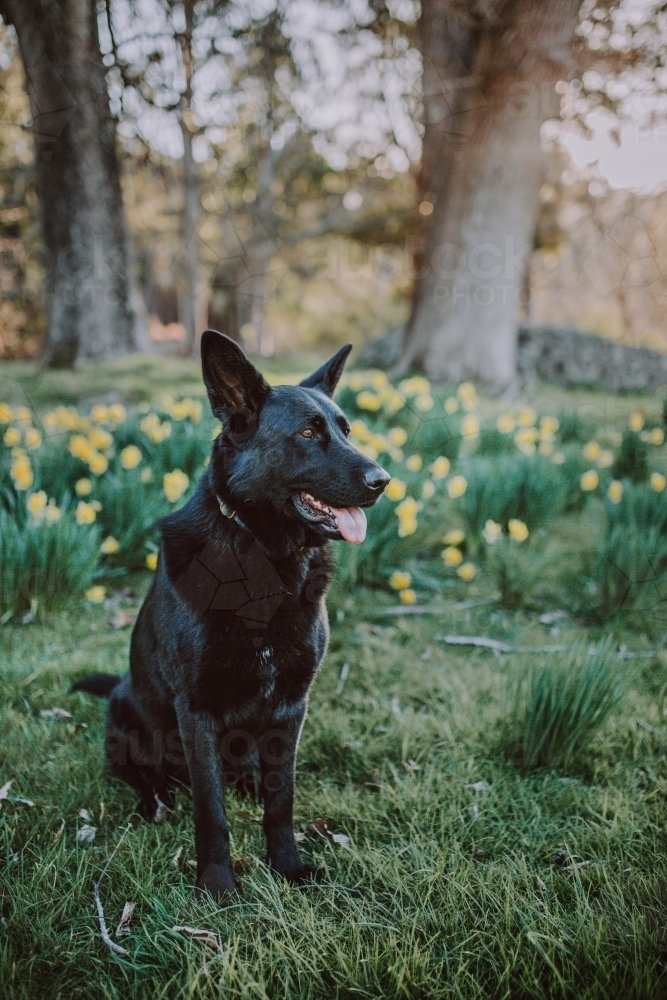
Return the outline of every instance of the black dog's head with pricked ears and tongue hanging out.
<path id="1" fill-rule="evenodd" d="M 278 511 L 322 538 L 362 542 L 364 507 L 389 475 L 347 439 L 349 424 L 331 398 L 348 344 L 300 385 L 272 388 L 241 348 L 214 330 L 201 341 L 211 409 L 222 423 L 211 473 L 243 517 Z"/>

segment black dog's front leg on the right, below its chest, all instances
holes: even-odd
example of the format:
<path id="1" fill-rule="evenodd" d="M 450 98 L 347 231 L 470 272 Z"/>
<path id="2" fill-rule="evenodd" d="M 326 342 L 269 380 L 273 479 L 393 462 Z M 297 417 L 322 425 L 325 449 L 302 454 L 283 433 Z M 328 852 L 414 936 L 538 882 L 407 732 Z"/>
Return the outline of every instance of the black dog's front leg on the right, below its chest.
<path id="1" fill-rule="evenodd" d="M 280 729 L 266 733 L 260 744 L 260 770 L 264 801 L 264 834 L 271 868 L 296 884 L 312 879 L 315 869 L 307 865 L 294 840 L 294 766 L 302 709 Z"/>

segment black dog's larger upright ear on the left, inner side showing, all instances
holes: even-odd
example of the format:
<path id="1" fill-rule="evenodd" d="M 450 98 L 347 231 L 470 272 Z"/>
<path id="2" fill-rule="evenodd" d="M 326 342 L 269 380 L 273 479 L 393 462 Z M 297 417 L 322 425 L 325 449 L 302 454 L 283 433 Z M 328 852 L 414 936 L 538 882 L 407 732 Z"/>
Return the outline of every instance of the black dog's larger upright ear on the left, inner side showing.
<path id="1" fill-rule="evenodd" d="M 241 436 L 252 433 L 271 391 L 261 372 L 238 344 L 215 330 L 202 334 L 201 364 L 211 409 L 225 430 Z"/>

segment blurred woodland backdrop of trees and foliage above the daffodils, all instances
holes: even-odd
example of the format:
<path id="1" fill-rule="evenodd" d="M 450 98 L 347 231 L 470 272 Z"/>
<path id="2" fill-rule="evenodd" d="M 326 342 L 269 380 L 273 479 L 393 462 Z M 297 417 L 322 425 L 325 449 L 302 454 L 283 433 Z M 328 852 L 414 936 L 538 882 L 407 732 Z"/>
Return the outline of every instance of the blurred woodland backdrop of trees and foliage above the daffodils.
<path id="1" fill-rule="evenodd" d="M 0 356 L 393 331 L 395 370 L 501 390 L 519 319 L 662 346 L 664 196 L 563 144 L 657 127 L 659 4 L 43 6 L 0 0 Z"/>

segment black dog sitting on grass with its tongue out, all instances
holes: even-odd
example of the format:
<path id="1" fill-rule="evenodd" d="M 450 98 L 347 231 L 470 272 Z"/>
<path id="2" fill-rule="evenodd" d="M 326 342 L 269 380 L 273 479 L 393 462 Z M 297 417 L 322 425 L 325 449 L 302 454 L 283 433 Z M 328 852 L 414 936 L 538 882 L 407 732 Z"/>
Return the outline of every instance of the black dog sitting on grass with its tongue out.
<path id="1" fill-rule="evenodd" d="M 328 639 L 328 539 L 363 541 L 360 508 L 389 480 L 347 441 L 331 399 L 350 349 L 299 386 L 271 388 L 233 341 L 204 333 L 222 433 L 191 500 L 160 523 L 129 675 L 73 687 L 110 695 L 107 763 L 140 792 L 143 815 L 189 781 L 197 886 L 215 896 L 235 886 L 225 785 L 259 794 L 272 869 L 312 875 L 294 841 L 294 763 Z"/>

